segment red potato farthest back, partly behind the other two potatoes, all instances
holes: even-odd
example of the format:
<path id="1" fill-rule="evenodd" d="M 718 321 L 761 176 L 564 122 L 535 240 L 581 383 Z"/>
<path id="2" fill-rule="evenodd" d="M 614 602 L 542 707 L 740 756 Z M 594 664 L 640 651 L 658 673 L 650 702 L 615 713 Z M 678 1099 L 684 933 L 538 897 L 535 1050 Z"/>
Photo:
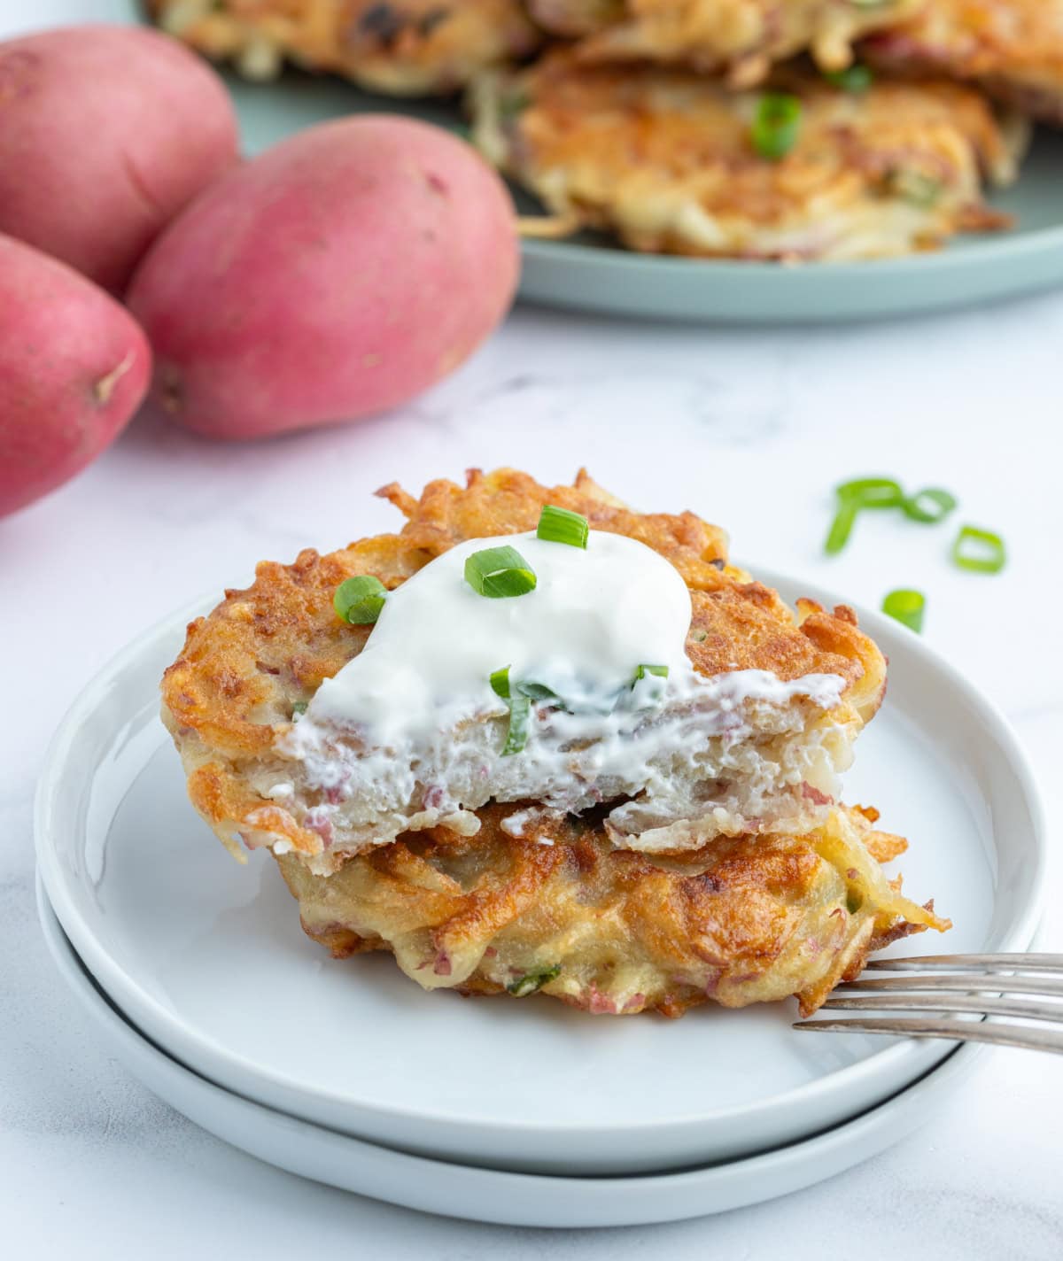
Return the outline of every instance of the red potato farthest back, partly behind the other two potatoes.
<path id="1" fill-rule="evenodd" d="M 0 44 L 0 232 L 121 294 L 160 230 L 237 158 L 221 78 L 137 26 Z"/>

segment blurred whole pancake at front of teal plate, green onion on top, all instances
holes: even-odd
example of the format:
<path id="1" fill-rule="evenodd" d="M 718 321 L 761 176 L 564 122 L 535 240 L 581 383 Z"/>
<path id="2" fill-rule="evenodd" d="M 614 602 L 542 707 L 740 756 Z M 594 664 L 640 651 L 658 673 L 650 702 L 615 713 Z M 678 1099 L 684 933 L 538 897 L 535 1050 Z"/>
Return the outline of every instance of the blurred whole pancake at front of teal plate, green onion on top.
<path id="1" fill-rule="evenodd" d="M 474 140 L 562 224 L 649 252 L 874 259 L 1009 222 L 981 180 L 1015 177 L 1025 132 L 976 92 L 878 82 L 856 95 L 789 71 L 773 87 L 801 102 L 797 141 L 774 161 L 753 146 L 759 93 L 570 50 L 479 79 Z"/>

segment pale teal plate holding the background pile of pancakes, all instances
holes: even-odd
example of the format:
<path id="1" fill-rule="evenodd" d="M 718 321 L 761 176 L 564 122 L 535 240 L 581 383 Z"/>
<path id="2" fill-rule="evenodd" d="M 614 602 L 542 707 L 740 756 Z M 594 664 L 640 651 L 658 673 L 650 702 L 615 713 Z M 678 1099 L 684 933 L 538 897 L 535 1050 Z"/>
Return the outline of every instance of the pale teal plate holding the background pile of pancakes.
<path id="1" fill-rule="evenodd" d="M 462 127 L 456 107 L 369 96 L 290 73 L 229 79 L 248 151 L 324 119 L 386 110 Z M 1010 232 L 966 236 L 937 253 L 875 262 L 779 265 L 632 253 L 607 237 L 527 241 L 521 295 L 619 315 L 743 324 L 817 323 L 938 310 L 1063 284 L 1063 136 L 1038 135 L 1015 188 L 992 198 Z"/>

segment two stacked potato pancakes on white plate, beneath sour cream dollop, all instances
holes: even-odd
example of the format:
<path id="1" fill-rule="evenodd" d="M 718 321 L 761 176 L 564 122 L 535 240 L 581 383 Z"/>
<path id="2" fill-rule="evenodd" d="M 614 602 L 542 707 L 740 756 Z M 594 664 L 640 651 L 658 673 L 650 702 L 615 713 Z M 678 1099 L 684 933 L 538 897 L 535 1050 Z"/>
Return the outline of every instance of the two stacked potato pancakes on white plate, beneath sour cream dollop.
<path id="1" fill-rule="evenodd" d="M 881 653 L 850 609 L 801 601 L 791 613 L 728 562 L 721 531 L 692 513 L 632 512 L 586 474 L 552 489 L 501 470 L 434 482 L 420 499 L 382 493 L 407 517 L 398 535 L 260 565 L 251 588 L 192 623 L 163 682 L 193 803 L 235 852 L 271 849 L 313 937 L 340 956 L 388 948 L 426 989 L 541 990 L 590 1011 L 676 1015 L 706 999 L 792 994 L 812 1010 L 870 950 L 947 927 L 879 868 L 904 842 L 878 832 L 873 811 L 840 805 L 837 777 L 885 687 Z M 644 783 L 619 792 L 594 740 L 578 740 L 566 745 L 567 808 L 556 781 L 555 796 L 530 797 L 535 740 L 564 707 L 541 696 L 517 755 L 488 706 L 440 733 L 441 762 L 392 776 L 376 760 L 361 781 L 359 759 L 381 752 L 357 721 L 332 728 L 324 765 L 346 774 L 323 776 L 320 745 L 308 758 L 295 735 L 324 721 L 322 685 L 385 629 L 342 620 L 339 584 L 372 576 L 393 595 L 470 540 L 533 530 L 546 504 L 585 517 L 589 546 L 636 540 L 685 584 L 682 651 L 700 690 L 659 701 L 624 734 L 673 730 L 672 744 L 653 744 L 670 757 L 654 753 Z M 460 633 L 424 633 L 448 629 Z M 750 678 L 779 696 L 749 694 L 724 724 L 699 700 Z M 385 750 L 391 763 L 396 750 Z M 477 776 L 454 770 L 469 764 Z"/>

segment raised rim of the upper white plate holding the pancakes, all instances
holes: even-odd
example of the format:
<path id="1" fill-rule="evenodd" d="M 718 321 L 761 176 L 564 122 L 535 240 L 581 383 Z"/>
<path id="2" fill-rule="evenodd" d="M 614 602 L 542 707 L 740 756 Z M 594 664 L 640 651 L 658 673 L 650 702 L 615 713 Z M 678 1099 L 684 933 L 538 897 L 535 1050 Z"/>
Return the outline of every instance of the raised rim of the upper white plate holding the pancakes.
<path id="1" fill-rule="evenodd" d="M 803 578 L 793 578 L 791 575 L 779 574 L 764 566 L 753 566 L 750 571 L 758 578 L 759 581 L 763 581 L 773 588 L 783 586 L 784 589 L 789 589 L 799 586 L 807 593 L 807 598 L 817 600 L 825 607 L 834 607 L 836 603 L 842 603 L 835 594 L 823 590 L 818 583 L 807 581 Z M 156 620 L 153 625 L 135 636 L 134 639 L 115 653 L 81 690 L 73 704 L 67 710 L 49 744 L 38 781 L 33 812 L 34 841 L 38 870 L 42 874 L 50 904 L 57 918 L 59 919 L 59 923 L 63 926 L 64 932 L 71 938 L 78 956 L 82 957 L 97 982 L 106 990 L 111 999 L 122 1008 L 124 1011 L 130 1005 L 127 996 L 132 994 L 134 1001 L 150 1010 L 158 1024 L 169 1030 L 171 1034 L 177 1034 L 178 1044 L 182 1042 L 193 1044 L 198 1050 L 203 1052 L 208 1059 L 224 1062 L 237 1073 L 267 1082 L 274 1087 L 301 1096 L 303 1098 L 311 1098 L 318 1102 L 329 1100 L 337 1101 L 343 1103 L 346 1107 L 371 1113 L 377 1117 L 401 1117 L 406 1121 L 420 1121 L 434 1126 L 456 1127 L 463 1132 L 479 1131 L 491 1132 L 497 1136 L 512 1136 L 516 1134 L 608 1136 L 618 1132 L 649 1134 L 654 1131 L 687 1134 L 704 1129 L 705 1126 L 724 1125 L 728 1122 L 734 1124 L 744 1117 L 749 1119 L 759 1116 L 781 1107 L 794 1108 L 798 1106 L 815 1105 L 818 1096 L 830 1097 L 835 1091 L 845 1091 L 847 1087 L 855 1086 L 865 1077 L 875 1077 L 886 1072 L 894 1066 L 895 1061 L 903 1058 L 912 1061 L 910 1068 L 914 1079 L 927 1068 L 939 1062 L 948 1053 L 948 1044 L 946 1043 L 938 1044 L 931 1040 L 898 1042 L 884 1045 L 880 1050 L 875 1050 L 852 1064 L 846 1064 L 842 1068 L 816 1077 L 815 1079 L 805 1082 L 801 1086 L 765 1096 L 755 1103 L 740 1105 L 734 1108 L 716 1110 L 707 1113 L 696 1113 L 668 1121 L 654 1121 L 649 1119 L 642 1121 L 620 1121 L 612 1116 L 605 1116 L 596 1119 L 594 1125 L 589 1125 L 584 1121 L 565 1125 L 552 1121 L 533 1121 L 527 1119 L 502 1121 L 496 1119 L 470 1119 L 469 1116 L 462 1113 L 440 1112 L 435 1110 L 429 1111 L 424 1107 L 407 1108 L 391 1103 L 382 1105 L 367 1098 L 354 1098 L 337 1096 L 332 1092 L 314 1091 L 304 1082 L 294 1079 L 286 1073 L 276 1069 L 260 1066 L 255 1061 L 250 1061 L 243 1055 L 233 1053 L 224 1044 L 218 1043 L 214 1038 L 204 1035 L 197 1030 L 195 1026 L 178 1019 L 174 1013 L 161 1005 L 150 990 L 145 990 L 144 986 L 134 976 L 127 973 L 125 968 L 122 968 L 121 965 L 117 963 L 117 961 L 115 961 L 98 943 L 91 926 L 77 909 L 73 898 L 67 897 L 66 876 L 58 860 L 58 851 L 49 844 L 49 836 L 52 832 L 49 818 L 52 812 L 52 799 L 57 791 L 61 789 L 64 778 L 63 764 L 66 754 L 76 743 L 77 731 L 81 725 L 78 720 L 81 711 L 91 707 L 90 702 L 92 701 L 95 694 L 106 687 L 106 685 L 115 677 L 120 676 L 127 663 L 144 651 L 145 644 L 163 634 L 173 634 L 178 627 L 192 618 L 200 615 L 204 609 L 213 607 L 217 601 L 217 593 L 212 593 L 208 596 L 200 596 L 198 600 L 192 601 L 168 617 Z M 1002 944 L 1000 948 L 1026 950 L 1034 938 L 1044 904 L 1044 871 L 1048 860 L 1048 849 L 1045 812 L 1033 768 L 1025 750 L 1021 747 L 1021 743 L 1015 735 L 1011 724 L 1000 711 L 997 705 L 979 687 L 970 682 L 958 670 L 956 670 L 956 667 L 953 667 L 942 656 L 942 653 L 924 643 L 913 632 L 902 627 L 893 619 L 886 618 L 884 614 L 861 608 L 859 605 L 854 607 L 856 608 L 861 627 L 864 627 L 864 629 L 868 630 L 873 638 L 884 638 L 889 641 L 898 636 L 908 637 L 899 642 L 907 643 L 917 656 L 922 656 L 936 671 L 943 675 L 948 683 L 963 694 L 966 700 L 972 704 L 976 710 L 981 711 L 980 716 L 987 729 L 992 733 L 995 741 L 1006 750 L 1009 763 L 1019 782 L 1023 798 L 1026 803 L 1033 823 L 1030 842 L 1033 846 L 1034 861 L 1033 864 L 1026 864 L 1026 870 L 1030 875 L 1030 897 L 1026 900 L 1024 912 L 1020 914 L 1018 921 L 1011 924 L 1010 931 L 1005 934 L 1008 944 Z"/>

